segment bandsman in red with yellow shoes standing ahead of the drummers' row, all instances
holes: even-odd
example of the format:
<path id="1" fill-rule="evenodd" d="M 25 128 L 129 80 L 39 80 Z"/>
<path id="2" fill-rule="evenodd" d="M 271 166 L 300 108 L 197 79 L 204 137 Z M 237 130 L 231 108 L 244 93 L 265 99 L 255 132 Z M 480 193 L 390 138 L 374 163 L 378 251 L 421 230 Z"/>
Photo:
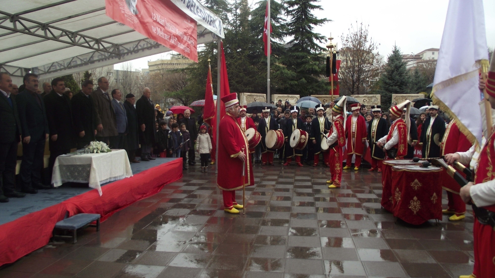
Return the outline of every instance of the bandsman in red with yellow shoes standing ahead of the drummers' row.
<path id="1" fill-rule="evenodd" d="M 346 145 L 346 134 L 344 127 L 346 118 L 347 96 L 343 96 L 337 104 L 332 107 L 332 115 L 327 115 L 332 121 L 330 135 L 327 138 L 328 149 L 330 150 L 330 180 L 327 181 L 328 188 L 337 188 L 342 182 L 342 148 Z M 332 119 L 333 118 L 333 119 Z"/>

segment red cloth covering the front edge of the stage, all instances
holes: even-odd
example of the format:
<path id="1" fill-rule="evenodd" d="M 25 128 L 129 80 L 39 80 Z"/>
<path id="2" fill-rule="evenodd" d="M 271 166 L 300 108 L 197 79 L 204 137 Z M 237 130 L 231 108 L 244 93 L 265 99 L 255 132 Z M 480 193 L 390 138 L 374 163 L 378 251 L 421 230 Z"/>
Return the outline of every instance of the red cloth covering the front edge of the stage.
<path id="1" fill-rule="evenodd" d="M 176 159 L 101 187 L 101 197 L 97 190 L 91 190 L 5 223 L 0 226 L 0 266 L 13 263 L 45 246 L 55 223 L 62 220 L 66 212 L 70 216 L 99 213 L 101 221 L 105 221 L 115 212 L 160 192 L 164 185 L 180 178 L 182 159 Z"/>

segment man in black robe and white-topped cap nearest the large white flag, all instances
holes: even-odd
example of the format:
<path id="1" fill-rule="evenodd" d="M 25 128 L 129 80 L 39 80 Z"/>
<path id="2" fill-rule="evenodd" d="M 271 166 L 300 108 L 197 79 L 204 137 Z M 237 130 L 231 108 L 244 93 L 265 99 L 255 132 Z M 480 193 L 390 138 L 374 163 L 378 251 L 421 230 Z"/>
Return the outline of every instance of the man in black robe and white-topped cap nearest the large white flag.
<path id="1" fill-rule="evenodd" d="M 423 158 L 440 157 L 440 143 L 445 134 L 445 121 L 438 115 L 438 106 L 428 106 L 430 117 L 426 118 L 421 127 L 421 142 L 423 143 Z"/>

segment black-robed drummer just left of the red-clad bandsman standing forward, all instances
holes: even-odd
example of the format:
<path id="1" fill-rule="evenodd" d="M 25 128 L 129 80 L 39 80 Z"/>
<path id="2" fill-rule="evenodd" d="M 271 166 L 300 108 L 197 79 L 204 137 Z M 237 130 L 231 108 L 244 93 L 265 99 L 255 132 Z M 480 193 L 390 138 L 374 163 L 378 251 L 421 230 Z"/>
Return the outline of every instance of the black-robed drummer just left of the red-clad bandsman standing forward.
<path id="1" fill-rule="evenodd" d="M 323 155 L 323 163 L 325 163 L 327 167 L 330 167 L 328 164 L 328 148 L 326 150 L 322 150 L 321 148 L 321 142 L 326 140 L 324 135 L 328 133 L 331 126 L 330 121 L 323 116 L 324 109 L 325 108 L 321 104 L 316 106 L 316 114 L 318 116 L 311 122 L 312 138 L 310 138 L 310 140 L 313 140 L 313 167 L 318 166 L 320 153 Z"/>

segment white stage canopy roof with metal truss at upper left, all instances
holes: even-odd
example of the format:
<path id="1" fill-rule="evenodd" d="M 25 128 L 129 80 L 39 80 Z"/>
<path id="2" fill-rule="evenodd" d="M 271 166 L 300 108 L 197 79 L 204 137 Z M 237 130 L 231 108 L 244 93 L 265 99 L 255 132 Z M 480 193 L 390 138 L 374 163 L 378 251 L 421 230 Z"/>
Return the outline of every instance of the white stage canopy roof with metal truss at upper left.
<path id="1" fill-rule="evenodd" d="M 198 45 L 216 41 L 215 33 L 223 37 L 223 30 L 198 21 Z M 1 3 L 0 70 L 14 78 L 28 71 L 52 78 L 167 51 L 171 50 L 108 17 L 105 0 Z"/>

